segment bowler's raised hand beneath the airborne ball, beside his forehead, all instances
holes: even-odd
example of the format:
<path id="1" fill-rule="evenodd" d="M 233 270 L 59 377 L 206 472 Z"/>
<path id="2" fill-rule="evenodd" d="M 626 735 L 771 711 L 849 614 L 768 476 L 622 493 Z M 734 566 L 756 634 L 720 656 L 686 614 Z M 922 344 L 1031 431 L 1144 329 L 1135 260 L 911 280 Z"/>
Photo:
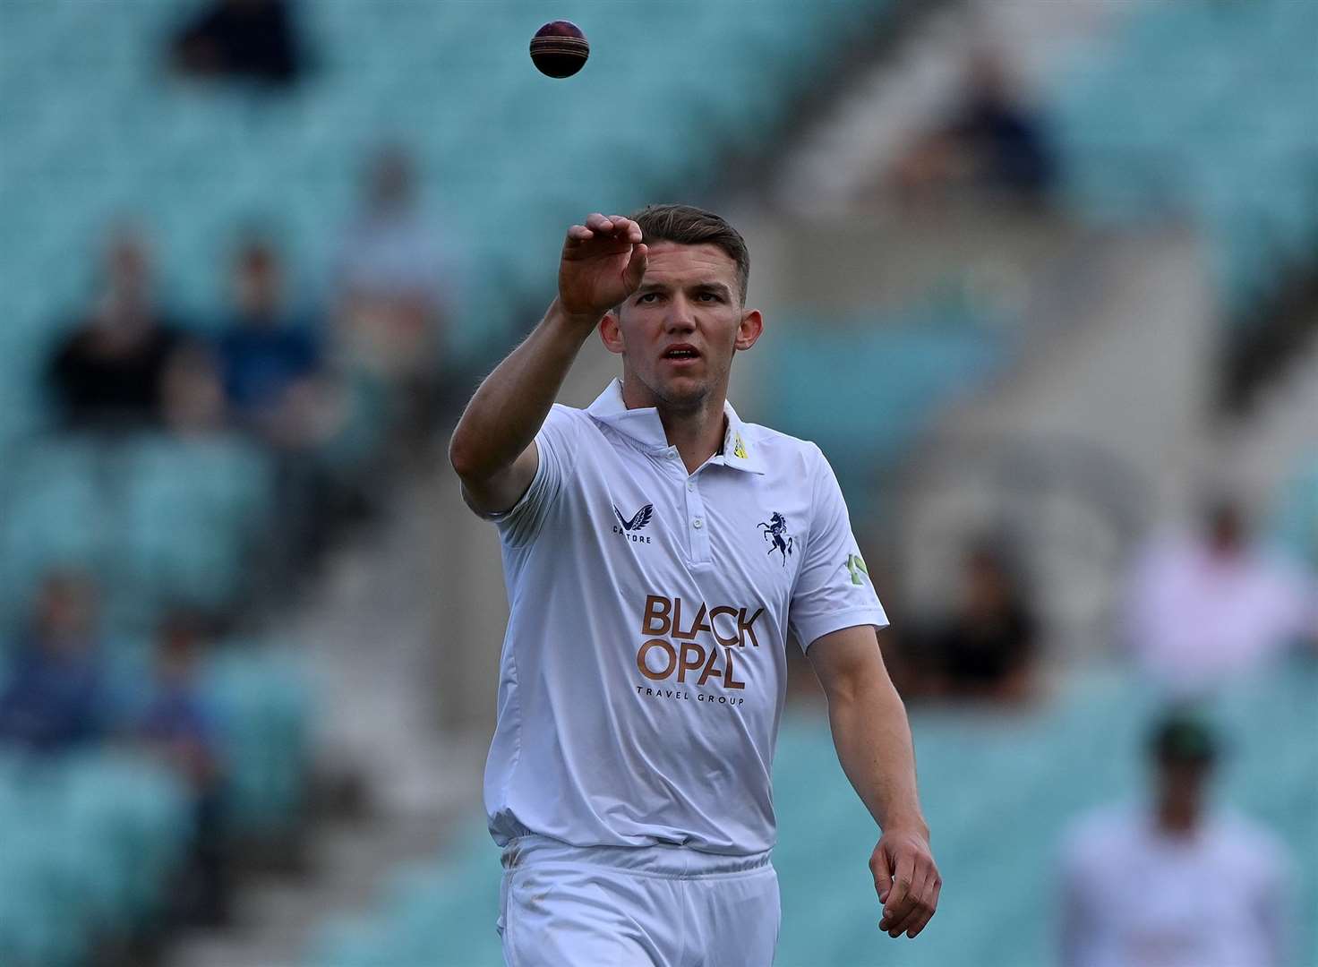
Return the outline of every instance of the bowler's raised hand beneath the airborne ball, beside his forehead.
<path id="1" fill-rule="evenodd" d="M 589 215 L 572 225 L 559 262 L 559 304 L 568 315 L 598 320 L 641 286 L 648 249 L 641 225 L 621 215 Z"/>

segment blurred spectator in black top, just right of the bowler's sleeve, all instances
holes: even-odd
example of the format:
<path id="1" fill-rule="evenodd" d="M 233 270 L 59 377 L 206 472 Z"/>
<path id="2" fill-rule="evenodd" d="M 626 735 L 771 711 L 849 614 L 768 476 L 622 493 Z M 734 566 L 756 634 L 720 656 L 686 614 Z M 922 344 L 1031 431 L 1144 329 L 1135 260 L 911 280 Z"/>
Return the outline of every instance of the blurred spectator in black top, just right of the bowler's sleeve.
<path id="1" fill-rule="evenodd" d="M 987 541 L 974 547 L 966 556 L 957 609 L 929 642 L 936 690 L 1002 701 L 1028 697 L 1036 626 L 1006 553 Z"/>

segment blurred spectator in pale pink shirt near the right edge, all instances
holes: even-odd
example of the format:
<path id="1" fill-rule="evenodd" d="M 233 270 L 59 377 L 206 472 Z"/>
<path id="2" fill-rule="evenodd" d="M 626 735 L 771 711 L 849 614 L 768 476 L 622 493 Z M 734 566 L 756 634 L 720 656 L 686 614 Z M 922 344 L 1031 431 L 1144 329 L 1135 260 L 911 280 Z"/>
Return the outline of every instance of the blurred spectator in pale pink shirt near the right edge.
<path id="1" fill-rule="evenodd" d="M 1206 514 L 1201 534 L 1144 553 L 1127 617 L 1140 665 L 1193 692 L 1318 640 L 1318 584 L 1259 548 L 1240 507 L 1226 502 Z"/>

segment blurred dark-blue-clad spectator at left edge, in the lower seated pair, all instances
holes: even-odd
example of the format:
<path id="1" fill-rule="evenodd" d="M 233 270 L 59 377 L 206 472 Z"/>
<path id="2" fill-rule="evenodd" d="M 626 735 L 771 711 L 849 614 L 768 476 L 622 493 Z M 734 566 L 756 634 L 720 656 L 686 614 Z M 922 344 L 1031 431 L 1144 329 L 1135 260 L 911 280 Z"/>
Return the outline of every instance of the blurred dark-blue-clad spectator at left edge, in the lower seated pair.
<path id="1" fill-rule="evenodd" d="M 0 694 L 0 742 L 54 754 L 101 738 L 111 702 L 99 644 L 91 582 L 74 574 L 47 577 Z"/>

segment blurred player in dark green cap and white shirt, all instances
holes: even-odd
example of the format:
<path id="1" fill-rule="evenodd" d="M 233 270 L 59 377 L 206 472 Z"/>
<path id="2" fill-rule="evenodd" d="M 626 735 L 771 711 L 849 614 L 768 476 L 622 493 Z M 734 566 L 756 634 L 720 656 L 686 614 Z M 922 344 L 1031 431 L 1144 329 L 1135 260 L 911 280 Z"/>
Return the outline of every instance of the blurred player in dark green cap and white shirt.
<path id="1" fill-rule="evenodd" d="M 1108 806 L 1062 850 L 1062 967 L 1281 967 L 1292 897 L 1282 846 L 1209 806 L 1213 731 L 1173 711 L 1149 747 L 1153 796 Z"/>

